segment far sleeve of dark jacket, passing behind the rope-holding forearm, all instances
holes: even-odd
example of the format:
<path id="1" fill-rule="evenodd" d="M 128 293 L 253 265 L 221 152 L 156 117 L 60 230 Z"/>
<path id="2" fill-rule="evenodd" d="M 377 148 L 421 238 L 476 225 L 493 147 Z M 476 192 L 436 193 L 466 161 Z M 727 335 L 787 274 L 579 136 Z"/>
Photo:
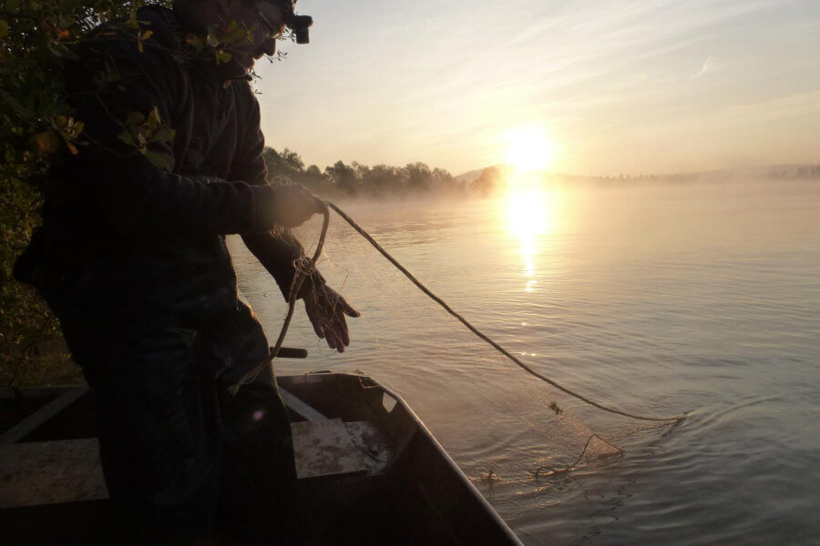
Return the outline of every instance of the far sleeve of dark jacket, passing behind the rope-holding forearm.
<path id="1" fill-rule="evenodd" d="M 245 117 L 244 136 L 237 157 L 231 166 L 230 177 L 231 180 L 246 180 L 252 185 L 267 185 L 265 178 L 268 168 L 262 157 L 265 138 L 261 132 L 259 102 L 250 90 L 245 94 L 244 99 L 243 104 L 247 105 L 245 109 L 248 116 Z M 296 276 L 295 262 L 304 256 L 304 249 L 299 240 L 284 227 L 261 233 L 244 233 L 242 240 L 253 256 L 271 273 L 279 289 L 282 290 L 282 295 L 288 298 L 293 278 Z M 302 285 L 300 297 L 309 287 L 323 282 L 322 275 L 315 271 Z"/>

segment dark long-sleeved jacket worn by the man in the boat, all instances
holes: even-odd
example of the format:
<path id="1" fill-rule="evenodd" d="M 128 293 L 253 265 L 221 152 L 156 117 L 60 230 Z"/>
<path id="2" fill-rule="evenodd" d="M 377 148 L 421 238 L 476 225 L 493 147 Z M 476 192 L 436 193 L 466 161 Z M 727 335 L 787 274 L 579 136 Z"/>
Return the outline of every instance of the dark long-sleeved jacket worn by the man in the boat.
<path id="1" fill-rule="evenodd" d="M 16 273 L 58 314 L 218 319 L 236 282 L 224 236 L 241 234 L 287 294 L 302 248 L 271 231 L 274 196 L 249 78 L 192 52 L 192 27 L 170 10 L 143 9 L 138 21 L 140 33 L 151 32 L 141 51 L 134 31 L 105 27 L 67 71 L 87 145 L 52 169 L 44 227 Z M 161 125 L 140 151 L 124 141 L 124 121 L 154 108 Z M 172 138 L 154 138 L 166 127 Z M 229 301 L 215 302 L 219 294 Z"/>

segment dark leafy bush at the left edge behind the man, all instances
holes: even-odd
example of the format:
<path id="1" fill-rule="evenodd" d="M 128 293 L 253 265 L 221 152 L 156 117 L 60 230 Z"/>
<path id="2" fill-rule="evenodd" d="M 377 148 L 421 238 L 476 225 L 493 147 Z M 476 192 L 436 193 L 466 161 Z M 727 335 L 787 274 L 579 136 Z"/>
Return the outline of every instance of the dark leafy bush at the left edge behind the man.
<path id="1" fill-rule="evenodd" d="M 143 5 L 112 0 L 0 5 L 0 386 L 60 381 L 77 373 L 61 349 L 56 319 L 11 270 L 40 221 L 43 175 L 56 157 L 82 153 L 83 122 L 67 104 L 63 67 L 77 57 L 79 41 L 102 23 L 119 21 L 142 47 L 151 35 L 137 21 Z"/>

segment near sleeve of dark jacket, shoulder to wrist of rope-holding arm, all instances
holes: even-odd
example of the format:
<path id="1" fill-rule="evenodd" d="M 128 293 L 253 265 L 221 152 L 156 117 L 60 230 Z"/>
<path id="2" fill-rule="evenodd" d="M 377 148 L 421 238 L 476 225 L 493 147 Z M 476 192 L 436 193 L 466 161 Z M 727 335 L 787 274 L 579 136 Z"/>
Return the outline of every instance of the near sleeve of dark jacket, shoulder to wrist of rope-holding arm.
<path id="1" fill-rule="evenodd" d="M 130 237 L 271 229 L 271 187 L 175 175 L 172 139 L 149 135 L 142 152 L 123 140 L 125 120 L 132 113 L 148 116 L 157 108 L 160 121 L 175 128 L 174 115 L 187 99 L 188 76 L 168 48 L 160 46 L 161 28 L 152 28 L 156 35 L 142 52 L 128 36 L 105 37 L 89 42 L 82 60 L 68 69 L 69 103 L 85 123 L 82 137 L 87 141 L 69 161 L 77 169 L 75 179 L 88 186 L 101 221 Z M 176 128 L 179 135 L 186 127 Z"/>

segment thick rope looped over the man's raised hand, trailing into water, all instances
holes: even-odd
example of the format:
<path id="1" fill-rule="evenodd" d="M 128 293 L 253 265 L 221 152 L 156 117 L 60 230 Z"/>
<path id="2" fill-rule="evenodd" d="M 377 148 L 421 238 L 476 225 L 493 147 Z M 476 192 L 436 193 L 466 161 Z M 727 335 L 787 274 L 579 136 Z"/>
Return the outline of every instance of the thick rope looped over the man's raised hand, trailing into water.
<path id="1" fill-rule="evenodd" d="M 408 271 L 395 258 L 393 258 L 390 255 L 389 252 L 384 250 L 384 248 L 382 248 L 382 246 L 379 245 L 374 240 L 374 238 L 372 238 L 370 236 L 369 233 L 364 231 L 364 229 L 361 226 L 356 224 L 356 222 L 354 221 L 353 218 L 347 216 L 347 214 L 341 208 L 336 207 L 330 201 L 325 201 L 325 204 L 327 205 L 327 207 L 333 208 L 333 210 L 336 212 L 336 214 L 338 214 L 340 217 L 342 217 L 345 222 L 350 224 L 350 226 L 353 227 L 359 233 L 359 235 L 361 235 L 368 243 L 373 245 L 373 247 L 376 250 L 378 250 L 379 253 L 382 256 L 384 256 L 384 258 L 387 259 L 387 261 L 389 261 L 391 264 L 393 264 L 396 269 L 401 271 L 402 274 L 404 274 L 404 276 L 406 278 L 408 278 L 410 280 L 410 282 L 415 284 L 415 286 L 418 289 L 420 289 L 422 292 L 424 292 L 425 295 L 428 298 L 431 298 L 441 308 L 446 310 L 447 313 L 449 313 L 451 316 L 453 316 L 455 319 L 457 319 L 459 322 L 461 322 L 464 326 L 466 326 L 466 329 L 469 329 L 471 332 L 476 334 L 476 336 L 478 338 L 484 339 L 489 345 L 491 345 L 499 353 L 501 353 L 502 355 L 507 357 L 507 359 L 510 359 L 513 362 L 515 362 L 516 364 L 518 364 L 518 366 L 521 369 L 524 369 L 530 375 L 532 375 L 532 376 L 534 376 L 538 379 L 541 379 L 542 381 L 547 382 L 549 385 L 552 385 L 556 389 L 562 390 L 563 392 L 566 392 L 567 394 L 569 394 L 569 396 L 572 396 L 572 397 L 575 397 L 579 400 L 582 400 L 582 401 L 588 403 L 590 406 L 598 408 L 599 410 L 609 411 L 610 413 L 615 413 L 617 415 L 622 415 L 623 417 L 629 417 L 630 419 L 651 420 L 651 421 L 681 421 L 681 420 L 686 419 L 685 415 L 675 415 L 675 416 L 671 416 L 671 417 L 656 417 L 656 416 L 651 416 L 651 415 L 639 415 L 639 414 L 636 414 L 636 413 L 629 413 L 627 411 L 616 410 L 615 408 L 610 408 L 609 406 L 605 406 L 605 405 L 600 404 L 600 403 L 598 403 L 598 402 L 596 402 L 592 399 L 589 399 L 589 398 L 579 394 L 578 392 L 575 392 L 572 389 L 568 389 L 567 387 L 564 387 L 563 385 L 561 385 L 558 381 L 555 381 L 554 379 L 549 379 L 544 374 L 536 371 L 535 369 L 532 369 L 527 364 L 525 364 L 520 359 L 518 359 L 518 357 L 516 357 L 515 355 L 510 353 L 507 349 L 504 349 L 503 347 L 501 347 L 501 345 L 499 345 L 495 340 L 490 339 L 486 334 L 484 334 L 479 329 L 477 329 L 475 326 L 470 324 L 470 322 L 467 321 L 467 319 L 465 319 L 464 317 L 462 317 L 461 315 L 456 313 L 456 311 L 453 310 L 453 308 L 451 308 L 449 305 L 447 305 L 447 303 L 444 299 L 439 298 L 438 296 L 436 296 L 436 294 L 431 292 L 429 288 L 425 287 L 425 285 L 422 284 L 421 281 L 419 281 L 417 278 L 415 278 L 415 276 L 412 273 L 410 273 L 410 271 Z M 277 339 L 277 341 L 276 341 L 276 346 L 273 348 L 271 356 L 268 359 L 265 359 L 263 362 L 261 362 L 261 364 L 259 366 L 257 366 L 256 368 L 251 369 L 251 371 L 248 372 L 248 374 L 246 374 L 245 377 L 243 377 L 240 380 L 238 385 L 234 385 L 233 387 L 231 387 L 231 393 L 232 394 L 236 393 L 236 390 L 239 389 L 239 385 L 243 385 L 243 384 L 246 384 L 246 382 L 252 381 L 259 374 L 261 369 L 263 369 L 266 365 L 269 365 L 272 362 L 272 360 L 275 358 L 275 355 L 276 355 L 277 351 L 279 350 L 280 347 L 282 347 L 282 341 L 284 340 L 285 333 L 287 332 L 287 329 L 290 326 L 291 319 L 292 319 L 292 316 L 293 316 L 293 308 L 295 308 L 295 305 L 296 305 L 296 295 L 299 293 L 299 288 L 302 287 L 302 282 L 304 281 L 304 278 L 306 278 L 308 275 L 310 275 L 310 273 L 313 272 L 313 268 L 316 265 L 316 260 L 319 258 L 319 255 L 322 253 L 322 248 L 324 246 L 324 238 L 327 236 L 327 228 L 328 228 L 329 222 L 330 222 L 330 213 L 328 212 L 328 209 L 325 208 L 325 210 L 324 210 L 324 220 L 323 220 L 323 225 L 322 225 L 322 233 L 319 236 L 319 242 L 316 245 L 316 251 L 313 253 L 313 258 L 311 258 L 310 261 L 308 261 L 308 263 L 305 265 L 304 268 L 298 268 L 299 270 L 297 272 L 297 275 L 296 275 L 295 278 L 293 278 L 293 283 L 291 285 L 291 293 L 290 293 L 290 296 L 288 298 L 288 314 L 287 314 L 287 317 L 285 318 L 284 324 L 282 324 L 282 330 L 279 333 L 279 339 Z"/>

